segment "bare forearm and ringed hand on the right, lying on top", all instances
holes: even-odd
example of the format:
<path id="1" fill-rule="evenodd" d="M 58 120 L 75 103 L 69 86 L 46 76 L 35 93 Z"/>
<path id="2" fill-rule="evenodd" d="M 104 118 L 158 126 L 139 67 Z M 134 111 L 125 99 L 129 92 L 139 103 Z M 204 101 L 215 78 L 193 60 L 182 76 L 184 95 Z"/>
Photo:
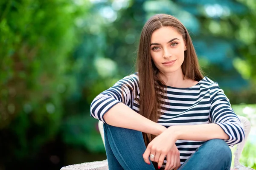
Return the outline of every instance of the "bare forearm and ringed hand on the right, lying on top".
<path id="1" fill-rule="evenodd" d="M 167 157 L 167 163 L 169 162 L 170 164 L 172 160 L 168 153 L 172 147 L 175 146 L 175 142 L 181 139 L 195 141 L 206 141 L 210 139 L 228 140 L 229 136 L 215 123 L 206 125 L 170 126 L 148 144 L 143 154 L 143 159 L 148 163 L 148 156 L 151 153 L 156 153 L 155 155 L 158 156 L 155 158 L 155 161 L 158 162 L 158 167 L 162 166 L 165 156 Z M 177 166 L 177 168 L 178 167 L 179 166 Z"/>

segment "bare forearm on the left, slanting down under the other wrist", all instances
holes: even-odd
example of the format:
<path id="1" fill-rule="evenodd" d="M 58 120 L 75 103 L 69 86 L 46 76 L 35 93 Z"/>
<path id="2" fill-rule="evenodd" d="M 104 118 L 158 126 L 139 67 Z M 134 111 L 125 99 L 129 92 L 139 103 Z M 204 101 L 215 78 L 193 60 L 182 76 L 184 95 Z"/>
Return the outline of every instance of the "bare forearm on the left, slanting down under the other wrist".
<path id="1" fill-rule="evenodd" d="M 153 135 L 160 135 L 166 130 L 166 127 L 145 118 L 123 103 L 114 105 L 105 113 L 103 118 L 108 125 L 138 130 Z"/>

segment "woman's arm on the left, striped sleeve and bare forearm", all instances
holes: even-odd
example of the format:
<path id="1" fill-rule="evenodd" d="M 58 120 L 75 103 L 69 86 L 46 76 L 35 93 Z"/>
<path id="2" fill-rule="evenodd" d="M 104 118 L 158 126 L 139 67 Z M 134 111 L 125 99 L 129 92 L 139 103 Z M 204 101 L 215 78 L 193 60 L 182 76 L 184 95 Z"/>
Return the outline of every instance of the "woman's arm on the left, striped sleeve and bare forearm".
<path id="1" fill-rule="evenodd" d="M 135 74 L 119 80 L 113 87 L 96 96 L 91 103 L 90 115 L 112 126 L 159 135 L 166 127 L 131 109 L 136 91 L 138 81 Z"/>

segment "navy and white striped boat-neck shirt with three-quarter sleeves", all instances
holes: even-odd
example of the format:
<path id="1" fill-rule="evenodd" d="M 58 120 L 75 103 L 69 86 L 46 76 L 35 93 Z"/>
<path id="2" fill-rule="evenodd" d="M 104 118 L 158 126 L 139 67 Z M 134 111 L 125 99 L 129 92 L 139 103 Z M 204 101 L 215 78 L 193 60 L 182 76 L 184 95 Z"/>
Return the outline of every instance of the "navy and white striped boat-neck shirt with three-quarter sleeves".
<path id="1" fill-rule="evenodd" d="M 216 123 L 230 137 L 225 140 L 229 146 L 244 140 L 243 125 L 218 83 L 204 77 L 190 88 L 166 86 L 165 90 L 167 97 L 162 100 L 166 104 L 162 105 L 162 115 L 158 119 L 158 124 L 168 128 L 176 125 Z M 91 104 L 90 115 L 105 122 L 104 114 L 119 102 L 123 102 L 139 113 L 140 104 L 137 102 L 139 99 L 139 77 L 136 73 L 124 77 L 113 87 L 96 96 Z M 204 142 L 177 140 L 175 144 L 180 151 L 180 164 L 183 164 Z"/>

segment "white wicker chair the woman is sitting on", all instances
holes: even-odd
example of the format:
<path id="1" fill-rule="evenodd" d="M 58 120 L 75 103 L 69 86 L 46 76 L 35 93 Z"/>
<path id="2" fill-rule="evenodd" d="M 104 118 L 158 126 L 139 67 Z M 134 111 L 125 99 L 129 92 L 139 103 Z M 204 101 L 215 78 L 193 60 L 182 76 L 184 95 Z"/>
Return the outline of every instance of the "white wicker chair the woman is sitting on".
<path id="1" fill-rule="evenodd" d="M 237 144 L 236 151 L 234 153 L 235 160 L 234 160 L 234 167 L 232 170 L 253 170 L 252 168 L 245 167 L 239 163 L 239 159 L 242 153 L 242 150 L 244 148 L 244 144 L 247 140 L 247 137 L 250 133 L 250 121 L 246 119 L 243 116 L 239 116 L 239 119 L 244 125 L 244 132 L 245 132 L 245 139 L 243 142 Z M 104 146 L 105 146 L 105 141 L 104 141 L 104 131 L 103 131 L 103 122 L 99 121 L 99 132 L 102 137 Z M 94 161 L 94 162 L 85 162 L 82 164 L 74 164 L 74 165 L 68 165 L 66 167 L 62 167 L 61 170 L 108 170 L 108 161 Z"/>

